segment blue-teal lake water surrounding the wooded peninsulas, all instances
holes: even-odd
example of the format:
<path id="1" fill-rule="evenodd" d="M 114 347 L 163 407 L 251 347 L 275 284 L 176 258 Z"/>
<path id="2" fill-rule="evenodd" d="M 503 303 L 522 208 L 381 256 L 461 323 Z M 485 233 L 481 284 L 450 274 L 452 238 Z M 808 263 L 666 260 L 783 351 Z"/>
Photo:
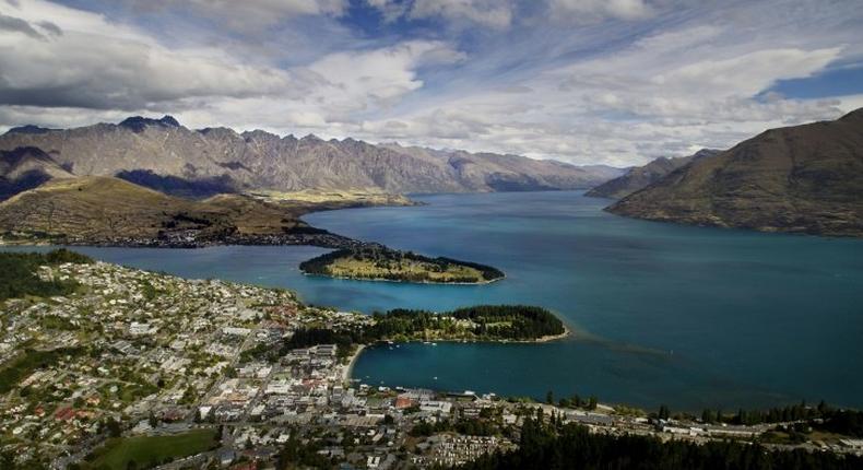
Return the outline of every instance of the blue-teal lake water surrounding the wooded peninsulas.
<path id="1" fill-rule="evenodd" d="M 312 225 L 507 273 L 489 285 L 305 277 L 311 247 L 81 248 L 188 278 L 287 286 L 308 303 L 371 312 L 499 303 L 556 312 L 576 331 L 545 344 L 367 350 L 371 385 L 507 396 L 596 395 L 646 408 L 756 408 L 806 399 L 863 407 L 863 240 L 618 218 L 581 192 L 440 195 L 427 205 L 308 215 Z"/>

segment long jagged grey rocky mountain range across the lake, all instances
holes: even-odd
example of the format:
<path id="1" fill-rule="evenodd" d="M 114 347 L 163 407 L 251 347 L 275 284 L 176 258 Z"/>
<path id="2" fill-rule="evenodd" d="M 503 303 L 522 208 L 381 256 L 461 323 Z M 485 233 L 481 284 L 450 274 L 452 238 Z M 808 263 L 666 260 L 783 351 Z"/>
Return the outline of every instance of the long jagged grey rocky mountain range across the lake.
<path id="1" fill-rule="evenodd" d="M 176 119 L 131 117 L 119 125 L 52 130 L 15 128 L 0 149 L 34 146 L 78 176 L 119 176 L 162 191 L 205 197 L 250 189 L 380 189 L 473 192 L 580 189 L 617 176 L 518 155 L 297 139 L 255 130 L 190 130 Z M 611 176 L 611 177 L 613 177 Z"/>

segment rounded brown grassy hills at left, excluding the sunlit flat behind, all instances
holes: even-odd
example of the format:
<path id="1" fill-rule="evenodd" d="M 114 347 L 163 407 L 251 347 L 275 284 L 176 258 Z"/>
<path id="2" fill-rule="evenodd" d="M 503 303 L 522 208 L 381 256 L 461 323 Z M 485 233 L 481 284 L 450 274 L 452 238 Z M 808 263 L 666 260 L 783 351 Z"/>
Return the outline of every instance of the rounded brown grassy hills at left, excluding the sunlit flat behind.
<path id="1" fill-rule="evenodd" d="M 88 240 L 217 238 L 282 234 L 304 227 L 306 207 L 221 195 L 203 201 L 167 196 L 108 177 L 54 179 L 0 203 L 7 238 Z"/>

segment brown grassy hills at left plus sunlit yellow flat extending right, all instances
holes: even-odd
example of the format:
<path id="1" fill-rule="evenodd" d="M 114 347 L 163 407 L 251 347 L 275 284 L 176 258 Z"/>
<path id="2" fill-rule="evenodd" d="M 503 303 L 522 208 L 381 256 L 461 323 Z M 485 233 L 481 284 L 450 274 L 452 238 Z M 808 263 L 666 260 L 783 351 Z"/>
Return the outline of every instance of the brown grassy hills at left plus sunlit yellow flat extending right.
<path id="1" fill-rule="evenodd" d="M 362 191 L 226 193 L 192 200 L 119 178 L 57 178 L 0 202 L 0 243 L 182 245 L 256 237 L 279 243 L 279 237 L 327 234 L 299 220 L 311 211 L 410 203 L 404 197 Z"/>

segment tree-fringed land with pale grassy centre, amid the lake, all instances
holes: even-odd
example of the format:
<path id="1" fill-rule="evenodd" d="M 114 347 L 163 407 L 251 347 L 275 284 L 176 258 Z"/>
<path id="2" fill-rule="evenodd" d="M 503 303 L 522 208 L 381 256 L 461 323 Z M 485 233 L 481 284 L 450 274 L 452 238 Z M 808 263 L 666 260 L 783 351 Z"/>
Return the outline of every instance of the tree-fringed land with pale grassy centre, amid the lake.
<path id="1" fill-rule="evenodd" d="M 439 284 L 484 284 L 504 273 L 489 266 L 451 258 L 429 258 L 382 245 L 339 249 L 299 265 L 306 274 L 369 281 Z"/>

